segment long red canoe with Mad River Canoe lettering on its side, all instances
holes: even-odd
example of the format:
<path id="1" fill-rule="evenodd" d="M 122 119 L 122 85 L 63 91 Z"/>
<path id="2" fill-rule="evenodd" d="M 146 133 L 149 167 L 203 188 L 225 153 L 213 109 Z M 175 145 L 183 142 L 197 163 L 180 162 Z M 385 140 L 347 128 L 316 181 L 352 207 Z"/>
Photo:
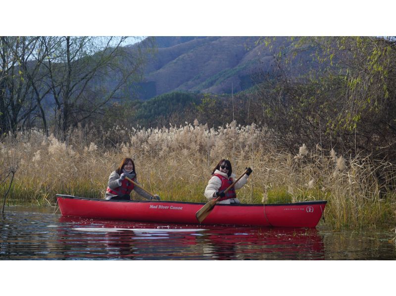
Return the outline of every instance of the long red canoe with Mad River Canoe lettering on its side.
<path id="1" fill-rule="evenodd" d="M 63 216 L 198 224 L 196 212 L 204 205 L 183 201 L 106 200 L 56 195 Z M 216 204 L 202 224 L 315 227 L 324 200 L 283 204 Z"/>

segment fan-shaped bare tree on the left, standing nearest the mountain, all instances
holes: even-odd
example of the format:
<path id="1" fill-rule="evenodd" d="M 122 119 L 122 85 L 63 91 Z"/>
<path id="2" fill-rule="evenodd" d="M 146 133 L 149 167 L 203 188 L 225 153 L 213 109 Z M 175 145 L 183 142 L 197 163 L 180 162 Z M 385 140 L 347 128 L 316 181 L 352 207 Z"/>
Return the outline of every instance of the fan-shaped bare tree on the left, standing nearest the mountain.
<path id="1" fill-rule="evenodd" d="M 44 39 L 49 96 L 64 138 L 69 127 L 103 114 L 106 105 L 129 95 L 129 83 L 142 78 L 146 54 L 123 45 L 128 37 Z M 111 77 L 111 80 L 109 79 Z"/>

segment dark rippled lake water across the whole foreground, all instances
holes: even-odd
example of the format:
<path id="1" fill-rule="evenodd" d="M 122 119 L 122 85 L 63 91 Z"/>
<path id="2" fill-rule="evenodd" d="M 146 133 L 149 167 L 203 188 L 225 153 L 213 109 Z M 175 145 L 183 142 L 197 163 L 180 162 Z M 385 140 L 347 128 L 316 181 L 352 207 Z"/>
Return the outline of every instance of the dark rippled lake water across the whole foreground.
<path id="1" fill-rule="evenodd" d="M 1 260 L 394 260 L 391 229 L 263 228 L 62 217 L 54 208 L 0 214 Z M 322 223 L 322 222 L 321 222 Z"/>

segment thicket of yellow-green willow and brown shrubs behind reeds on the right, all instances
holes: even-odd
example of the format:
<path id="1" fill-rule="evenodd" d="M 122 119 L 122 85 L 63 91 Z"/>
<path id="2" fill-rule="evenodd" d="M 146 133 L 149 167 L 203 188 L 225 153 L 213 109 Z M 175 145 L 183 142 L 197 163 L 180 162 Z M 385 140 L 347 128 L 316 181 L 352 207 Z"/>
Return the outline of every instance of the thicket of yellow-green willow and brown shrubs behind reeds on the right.
<path id="1" fill-rule="evenodd" d="M 276 42 L 259 39 L 273 60 L 254 73 L 254 86 L 232 95 L 199 95 L 200 103 L 184 112 L 169 110 L 168 121 L 255 123 L 268 128 L 279 148 L 303 142 L 396 158 L 394 38 L 289 38 L 287 47 Z"/>

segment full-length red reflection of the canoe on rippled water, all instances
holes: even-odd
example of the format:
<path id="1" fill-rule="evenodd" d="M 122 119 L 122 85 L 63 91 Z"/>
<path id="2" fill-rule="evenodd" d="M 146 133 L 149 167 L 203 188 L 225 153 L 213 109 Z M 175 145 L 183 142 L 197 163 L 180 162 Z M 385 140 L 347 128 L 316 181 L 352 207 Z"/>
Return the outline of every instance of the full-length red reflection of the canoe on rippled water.
<path id="1" fill-rule="evenodd" d="M 315 228 L 142 223 L 61 216 L 65 258 L 143 260 L 325 259 Z M 78 254 L 78 255 L 76 255 Z"/>

